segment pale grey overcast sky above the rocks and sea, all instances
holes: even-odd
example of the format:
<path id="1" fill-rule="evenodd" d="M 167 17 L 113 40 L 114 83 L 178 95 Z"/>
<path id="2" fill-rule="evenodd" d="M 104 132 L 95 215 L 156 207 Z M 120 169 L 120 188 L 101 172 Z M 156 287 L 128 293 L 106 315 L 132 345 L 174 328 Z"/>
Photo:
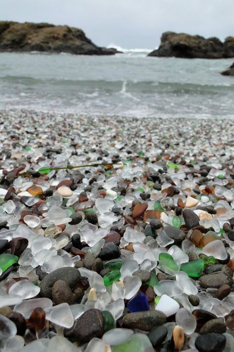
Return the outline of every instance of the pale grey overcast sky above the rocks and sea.
<path id="1" fill-rule="evenodd" d="M 234 0 L 0 0 L 0 19 L 67 24 L 100 46 L 151 49 L 168 30 L 234 36 Z"/>

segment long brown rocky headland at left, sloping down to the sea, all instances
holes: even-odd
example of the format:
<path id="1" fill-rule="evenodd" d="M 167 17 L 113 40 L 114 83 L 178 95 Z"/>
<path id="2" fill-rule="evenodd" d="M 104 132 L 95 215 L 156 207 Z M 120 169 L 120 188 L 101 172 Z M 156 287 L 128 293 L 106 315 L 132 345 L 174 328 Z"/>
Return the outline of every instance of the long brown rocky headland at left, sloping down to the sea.
<path id="1" fill-rule="evenodd" d="M 48 23 L 0 21 L 0 51 L 69 52 L 113 55 L 116 49 L 96 46 L 81 29 Z"/>

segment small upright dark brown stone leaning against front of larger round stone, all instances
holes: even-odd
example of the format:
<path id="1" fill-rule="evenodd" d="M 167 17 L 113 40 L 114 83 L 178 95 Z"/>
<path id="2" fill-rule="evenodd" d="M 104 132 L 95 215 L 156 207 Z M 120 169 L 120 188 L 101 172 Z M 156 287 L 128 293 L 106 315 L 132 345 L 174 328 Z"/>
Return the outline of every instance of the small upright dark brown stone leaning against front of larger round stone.
<path id="1" fill-rule="evenodd" d="M 74 303 L 74 296 L 68 283 L 64 280 L 57 280 L 52 286 L 52 299 L 55 304 Z"/>

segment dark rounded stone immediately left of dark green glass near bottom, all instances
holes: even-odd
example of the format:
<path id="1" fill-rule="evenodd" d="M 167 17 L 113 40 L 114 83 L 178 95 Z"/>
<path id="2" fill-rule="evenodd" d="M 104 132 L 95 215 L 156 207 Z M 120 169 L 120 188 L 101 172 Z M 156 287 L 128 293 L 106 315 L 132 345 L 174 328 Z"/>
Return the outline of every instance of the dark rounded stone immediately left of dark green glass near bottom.
<path id="1" fill-rule="evenodd" d="M 73 334 L 80 343 L 89 342 L 104 334 L 104 318 L 99 309 L 86 310 L 76 321 Z"/>

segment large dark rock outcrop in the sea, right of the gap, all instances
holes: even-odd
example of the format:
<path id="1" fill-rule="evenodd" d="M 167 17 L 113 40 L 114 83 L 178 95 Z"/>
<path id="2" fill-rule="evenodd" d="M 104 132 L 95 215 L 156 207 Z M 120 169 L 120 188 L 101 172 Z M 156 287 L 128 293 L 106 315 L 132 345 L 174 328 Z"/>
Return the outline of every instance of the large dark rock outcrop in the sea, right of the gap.
<path id="1" fill-rule="evenodd" d="M 227 58 L 234 57 L 234 37 L 222 43 L 218 38 L 205 39 L 185 33 L 165 32 L 158 49 L 148 56 L 175 56 L 184 58 Z"/>

